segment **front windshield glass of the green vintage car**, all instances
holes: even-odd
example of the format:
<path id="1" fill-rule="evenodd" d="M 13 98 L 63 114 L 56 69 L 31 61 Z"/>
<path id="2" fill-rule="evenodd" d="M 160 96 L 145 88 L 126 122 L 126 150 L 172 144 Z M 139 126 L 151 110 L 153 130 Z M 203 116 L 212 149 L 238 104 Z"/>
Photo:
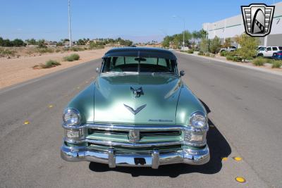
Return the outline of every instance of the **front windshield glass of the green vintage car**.
<path id="1" fill-rule="evenodd" d="M 109 57 L 104 58 L 102 73 L 137 72 L 176 74 L 176 61 L 165 58 Z"/>

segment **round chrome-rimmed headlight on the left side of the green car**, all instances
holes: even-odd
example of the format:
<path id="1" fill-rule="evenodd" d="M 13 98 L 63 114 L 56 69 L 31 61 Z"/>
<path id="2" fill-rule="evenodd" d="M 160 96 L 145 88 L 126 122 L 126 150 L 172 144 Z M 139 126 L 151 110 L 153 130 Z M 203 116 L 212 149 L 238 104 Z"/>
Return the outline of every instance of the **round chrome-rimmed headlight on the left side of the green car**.
<path id="1" fill-rule="evenodd" d="M 68 108 L 63 113 L 63 124 L 75 126 L 80 124 L 80 113 L 75 108 Z"/>

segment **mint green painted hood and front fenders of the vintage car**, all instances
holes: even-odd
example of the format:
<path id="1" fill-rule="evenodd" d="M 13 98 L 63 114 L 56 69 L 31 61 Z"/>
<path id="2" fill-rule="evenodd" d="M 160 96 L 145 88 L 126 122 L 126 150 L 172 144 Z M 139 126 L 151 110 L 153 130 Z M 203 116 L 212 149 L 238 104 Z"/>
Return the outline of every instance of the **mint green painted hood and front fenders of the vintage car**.
<path id="1" fill-rule="evenodd" d="M 130 87 L 142 87 L 144 95 L 133 96 Z M 133 115 L 123 104 L 137 108 Z M 172 75 L 99 76 L 68 104 L 82 115 L 82 123 L 123 125 L 188 125 L 190 114 L 204 108 L 179 77 Z M 152 122 L 150 120 L 168 120 Z"/>

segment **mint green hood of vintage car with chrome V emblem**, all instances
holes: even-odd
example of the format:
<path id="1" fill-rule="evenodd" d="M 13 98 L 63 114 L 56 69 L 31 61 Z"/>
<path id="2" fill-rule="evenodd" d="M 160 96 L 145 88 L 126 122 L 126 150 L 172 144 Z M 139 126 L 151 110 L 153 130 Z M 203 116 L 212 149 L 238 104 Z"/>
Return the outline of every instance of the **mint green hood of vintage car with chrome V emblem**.
<path id="1" fill-rule="evenodd" d="M 182 85 L 172 75 L 101 75 L 95 82 L 94 123 L 176 124 Z M 130 87 L 142 87 L 143 94 L 135 97 Z"/>

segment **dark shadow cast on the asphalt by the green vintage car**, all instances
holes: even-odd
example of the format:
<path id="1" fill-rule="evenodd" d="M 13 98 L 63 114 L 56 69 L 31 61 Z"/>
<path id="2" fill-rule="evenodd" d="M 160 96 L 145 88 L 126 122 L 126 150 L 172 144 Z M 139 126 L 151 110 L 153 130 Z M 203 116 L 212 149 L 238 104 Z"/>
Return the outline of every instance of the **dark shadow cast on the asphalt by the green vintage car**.
<path id="1" fill-rule="evenodd" d="M 201 101 L 201 100 L 200 100 Z M 207 113 L 210 112 L 209 107 L 201 101 Z M 93 172 L 102 173 L 106 171 L 116 171 L 120 173 L 131 174 L 132 177 L 138 176 L 168 176 L 178 177 L 178 175 L 188 173 L 215 174 L 222 168 L 222 158 L 231 154 L 231 147 L 216 125 L 209 119 L 209 132 L 207 132 L 207 144 L 209 145 L 210 161 L 204 165 L 186 165 L 183 163 L 173 165 L 161 165 L 159 169 L 138 168 L 138 167 L 116 167 L 109 168 L 108 165 L 102 163 L 90 162 L 89 168 Z"/>

